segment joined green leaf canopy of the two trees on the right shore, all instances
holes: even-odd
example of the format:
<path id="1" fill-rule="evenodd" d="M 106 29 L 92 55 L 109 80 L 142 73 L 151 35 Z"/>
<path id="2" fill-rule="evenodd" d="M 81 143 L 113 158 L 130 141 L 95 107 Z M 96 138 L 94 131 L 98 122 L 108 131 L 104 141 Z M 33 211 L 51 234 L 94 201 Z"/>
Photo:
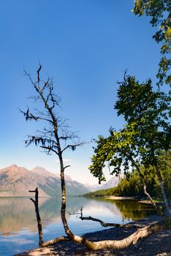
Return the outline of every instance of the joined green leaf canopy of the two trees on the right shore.
<path id="1" fill-rule="evenodd" d="M 127 124 L 110 135 L 96 140 L 91 158 L 91 173 L 104 181 L 103 168 L 108 165 L 110 174 L 126 174 L 130 167 L 149 167 L 156 164 L 161 150 L 170 148 L 170 124 L 167 122 L 169 98 L 161 91 L 153 92 L 151 80 L 139 83 L 125 74 L 118 89 L 115 109 Z"/>

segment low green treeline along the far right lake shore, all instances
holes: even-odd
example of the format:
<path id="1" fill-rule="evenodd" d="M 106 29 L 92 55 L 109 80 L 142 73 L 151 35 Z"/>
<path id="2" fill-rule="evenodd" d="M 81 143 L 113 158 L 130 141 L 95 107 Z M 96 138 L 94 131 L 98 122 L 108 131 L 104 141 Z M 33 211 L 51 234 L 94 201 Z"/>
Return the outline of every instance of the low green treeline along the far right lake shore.
<path id="1" fill-rule="evenodd" d="M 171 199 L 171 152 L 163 153 L 159 159 L 159 167 L 161 169 L 162 178 L 164 181 L 164 187 L 167 192 L 167 196 Z M 152 167 L 151 167 L 152 168 Z M 159 185 L 159 180 L 156 173 L 150 169 L 145 169 L 141 166 L 141 172 L 145 176 L 145 183 L 147 186 L 147 191 L 151 192 L 153 198 L 161 199 L 161 189 Z M 145 197 L 142 182 L 140 180 L 139 173 L 134 170 L 132 173 L 128 172 L 126 176 L 121 178 L 120 183 L 117 187 L 111 189 L 103 189 L 95 192 L 90 192 L 86 196 L 104 196 L 104 195 L 114 195 L 114 196 L 129 196 L 129 197 Z"/>

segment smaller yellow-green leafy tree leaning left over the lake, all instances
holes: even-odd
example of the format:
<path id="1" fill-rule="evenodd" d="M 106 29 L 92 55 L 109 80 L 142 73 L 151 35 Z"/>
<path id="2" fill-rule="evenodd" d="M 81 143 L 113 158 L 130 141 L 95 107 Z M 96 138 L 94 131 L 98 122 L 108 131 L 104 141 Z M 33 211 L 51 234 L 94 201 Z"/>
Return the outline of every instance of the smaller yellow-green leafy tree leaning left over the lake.
<path id="1" fill-rule="evenodd" d="M 92 165 L 89 167 L 91 173 L 99 178 L 99 183 L 104 181 L 103 168 L 105 165 L 110 167 L 110 174 L 118 176 L 121 173 L 122 167 L 124 173 L 128 177 L 129 168 L 136 169 L 139 173 L 140 180 L 145 195 L 151 200 L 151 203 L 156 208 L 151 195 L 147 192 L 145 177 L 140 170 L 142 159 L 140 158 L 140 148 L 137 147 L 134 137 L 138 136 L 134 129 L 134 124 L 126 125 L 124 129 L 119 132 L 110 129 L 110 136 L 104 138 L 99 136 L 96 140 L 97 146 L 94 149 L 94 156 L 91 158 Z M 112 168 L 112 170 L 111 170 Z"/>

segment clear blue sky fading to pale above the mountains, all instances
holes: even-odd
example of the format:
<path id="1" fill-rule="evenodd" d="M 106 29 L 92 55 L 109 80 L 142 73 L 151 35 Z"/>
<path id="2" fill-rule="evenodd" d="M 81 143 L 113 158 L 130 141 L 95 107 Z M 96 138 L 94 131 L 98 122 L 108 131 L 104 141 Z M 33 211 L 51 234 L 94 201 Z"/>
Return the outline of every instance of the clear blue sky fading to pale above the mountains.
<path id="1" fill-rule="evenodd" d="M 36 124 L 18 108 L 31 105 L 33 89 L 23 67 L 35 77 L 39 61 L 56 81 L 62 116 L 82 140 L 120 129 L 123 119 L 113 105 L 128 69 L 140 81 L 155 79 L 159 45 L 148 18 L 139 18 L 128 0 L 6 0 L 0 10 L 0 168 L 37 165 L 59 173 L 56 156 L 24 147 Z M 66 174 L 96 184 L 88 171 L 92 144 L 68 151 Z M 111 177 L 107 176 L 107 179 Z"/>

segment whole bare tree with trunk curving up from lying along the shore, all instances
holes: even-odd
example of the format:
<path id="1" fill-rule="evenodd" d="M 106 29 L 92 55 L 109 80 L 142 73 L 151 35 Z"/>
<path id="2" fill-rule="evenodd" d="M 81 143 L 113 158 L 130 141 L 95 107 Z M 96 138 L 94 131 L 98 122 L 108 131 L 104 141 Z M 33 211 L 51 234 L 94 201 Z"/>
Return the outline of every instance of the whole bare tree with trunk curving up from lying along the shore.
<path id="1" fill-rule="evenodd" d="M 156 232 L 156 230 L 161 230 L 163 226 L 155 223 L 137 230 L 131 236 L 124 238 L 121 241 L 112 240 L 92 242 L 88 241 L 85 237 L 76 236 L 69 229 L 69 225 L 66 220 L 66 187 L 64 178 L 64 170 L 66 167 L 69 167 L 69 165 L 64 165 L 63 154 L 67 149 L 72 149 L 74 151 L 77 146 L 82 146 L 83 142 L 77 138 L 77 135 L 75 135 L 74 132 L 69 132 L 69 127 L 66 125 L 66 120 L 58 116 L 58 108 L 61 108 L 59 105 L 60 99 L 56 94 L 54 94 L 53 78 L 48 77 L 47 80 L 43 81 L 40 78 L 41 69 L 42 65 L 39 64 L 36 82 L 32 80 L 31 75 L 29 75 L 28 72 L 25 71 L 25 74 L 28 76 L 29 80 L 31 81 L 31 85 L 37 92 L 37 95 L 35 97 L 31 97 L 31 99 L 34 99 L 34 102 L 37 103 L 37 105 L 38 103 L 42 104 L 42 108 L 34 110 L 35 113 L 32 113 L 29 108 L 27 108 L 26 111 L 20 111 L 25 116 L 26 121 L 45 122 L 45 127 L 38 131 L 37 135 L 28 136 L 28 140 L 25 141 L 26 146 L 33 143 L 42 148 L 47 154 L 54 153 L 58 156 L 61 171 L 61 219 L 66 235 L 70 240 L 79 244 L 84 244 L 88 249 L 122 249 L 126 248 L 126 246 L 129 246 L 130 244 L 136 244 L 139 238 L 145 238 L 151 233 Z M 41 233 L 40 238 L 42 239 Z M 58 238 L 56 238 L 47 243 L 42 241 L 40 246 L 46 246 L 56 241 L 64 241 L 64 239 L 59 238 L 58 240 Z"/>

